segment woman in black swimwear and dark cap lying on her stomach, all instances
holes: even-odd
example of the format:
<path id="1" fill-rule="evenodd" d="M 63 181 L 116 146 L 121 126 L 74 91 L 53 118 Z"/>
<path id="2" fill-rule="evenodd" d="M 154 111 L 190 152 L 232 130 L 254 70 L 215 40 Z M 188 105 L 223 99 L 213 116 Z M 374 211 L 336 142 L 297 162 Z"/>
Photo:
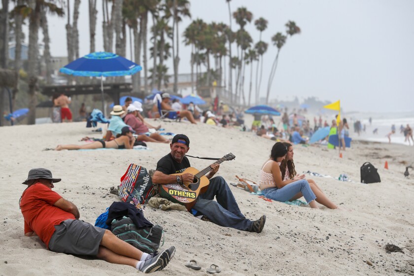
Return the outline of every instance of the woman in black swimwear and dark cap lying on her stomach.
<path id="1" fill-rule="evenodd" d="M 135 131 L 131 127 L 123 127 L 121 135 L 110 141 L 95 141 L 86 145 L 58 145 L 55 150 L 61 149 L 97 149 L 97 148 L 116 148 L 131 149 L 135 143 L 135 137 L 132 135 Z"/>

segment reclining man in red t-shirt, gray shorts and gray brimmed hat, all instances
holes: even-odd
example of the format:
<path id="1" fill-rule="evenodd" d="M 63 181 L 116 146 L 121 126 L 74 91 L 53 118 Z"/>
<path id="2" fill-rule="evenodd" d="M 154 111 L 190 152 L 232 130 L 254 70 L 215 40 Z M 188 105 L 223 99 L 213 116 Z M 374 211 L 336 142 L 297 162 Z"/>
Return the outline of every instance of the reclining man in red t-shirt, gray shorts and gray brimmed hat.
<path id="1" fill-rule="evenodd" d="M 174 255 L 174 246 L 153 256 L 118 239 L 109 230 L 78 220 L 78 208 L 52 191 L 53 183 L 61 180 L 53 178 L 47 169 L 29 171 L 23 182 L 28 187 L 20 201 L 25 236 L 38 235 L 54 252 L 93 255 L 109 263 L 130 265 L 143 273 L 167 266 Z"/>

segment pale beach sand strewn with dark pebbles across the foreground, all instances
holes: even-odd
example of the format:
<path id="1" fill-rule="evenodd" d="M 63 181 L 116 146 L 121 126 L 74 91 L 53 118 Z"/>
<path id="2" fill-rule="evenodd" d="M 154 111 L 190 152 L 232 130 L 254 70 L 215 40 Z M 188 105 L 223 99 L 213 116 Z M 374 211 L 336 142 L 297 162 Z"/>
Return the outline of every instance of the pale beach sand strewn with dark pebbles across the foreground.
<path id="1" fill-rule="evenodd" d="M 218 173 L 227 182 L 236 182 L 236 174 L 257 181 L 274 143 L 236 129 L 186 122 L 163 123 L 163 127 L 187 134 L 191 155 L 235 154 L 236 160 L 222 164 Z M 48 251 L 37 237 L 24 236 L 18 202 L 25 189 L 21 182 L 31 168 L 48 168 L 54 177 L 61 177 L 55 191 L 79 207 L 81 219 L 94 223 L 105 207 L 118 200 L 109 188 L 119 185 L 130 163 L 155 169 L 170 150 L 168 144 L 149 143 L 150 151 L 42 151 L 57 144 L 81 144 L 85 136 L 99 134 L 85 128 L 85 123 L 0 128 L 0 275 L 136 275 L 132 267 Z M 414 147 L 404 145 L 353 142 L 340 159 L 337 151 L 325 147 L 296 146 L 300 173 L 309 170 L 335 177 L 347 173 L 358 182 L 360 166 L 370 161 L 379 169 L 382 182 L 366 185 L 311 177 L 350 212 L 269 203 L 231 187 L 247 218 L 267 215 L 260 234 L 223 228 L 188 212 L 146 207 L 145 216 L 165 229 L 164 246 L 176 247 L 172 262 L 157 275 L 207 275 L 211 264 L 220 266 L 220 275 L 404 275 L 397 270 L 413 275 L 414 171 L 406 179 L 405 165 L 400 164 L 414 164 L 413 153 Z M 385 161 L 389 170 L 383 169 Z M 199 170 L 211 163 L 190 162 Z M 403 247 L 405 254 L 387 254 L 386 243 Z M 190 259 L 196 259 L 202 270 L 186 268 Z"/>

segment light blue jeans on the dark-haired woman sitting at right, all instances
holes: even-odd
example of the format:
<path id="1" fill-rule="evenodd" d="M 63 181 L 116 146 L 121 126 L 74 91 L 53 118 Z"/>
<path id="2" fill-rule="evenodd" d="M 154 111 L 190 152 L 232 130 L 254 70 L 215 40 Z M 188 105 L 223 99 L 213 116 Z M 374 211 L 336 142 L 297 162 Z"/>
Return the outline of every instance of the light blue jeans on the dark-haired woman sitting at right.
<path id="1" fill-rule="evenodd" d="M 311 186 L 305 179 L 297 180 L 289 183 L 282 188 L 267 188 L 262 191 L 263 195 L 269 199 L 273 199 L 280 202 L 291 200 L 297 193 L 301 192 L 306 202 L 309 204 L 312 200 L 316 199 L 315 194 L 312 192 Z"/>

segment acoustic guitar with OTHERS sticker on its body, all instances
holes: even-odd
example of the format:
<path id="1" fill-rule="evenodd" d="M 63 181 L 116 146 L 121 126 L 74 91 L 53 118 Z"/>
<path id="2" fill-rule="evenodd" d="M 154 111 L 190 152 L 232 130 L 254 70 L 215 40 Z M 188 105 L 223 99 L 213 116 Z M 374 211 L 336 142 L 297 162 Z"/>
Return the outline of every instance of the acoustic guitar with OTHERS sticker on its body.
<path id="1" fill-rule="evenodd" d="M 235 158 L 236 156 L 232 153 L 228 153 L 214 162 L 214 164 L 221 164 L 224 161 L 230 161 Z M 160 195 L 163 198 L 166 198 L 174 203 L 181 204 L 185 206 L 187 210 L 190 210 L 196 204 L 198 196 L 207 191 L 210 180 L 207 178 L 206 174 L 211 170 L 210 166 L 203 171 L 198 171 L 195 168 L 189 167 L 182 173 L 173 173 L 171 175 L 181 175 L 184 173 L 194 174 L 193 183 L 187 182 L 183 184 L 172 183 L 159 185 L 161 186 L 159 188 Z"/>

